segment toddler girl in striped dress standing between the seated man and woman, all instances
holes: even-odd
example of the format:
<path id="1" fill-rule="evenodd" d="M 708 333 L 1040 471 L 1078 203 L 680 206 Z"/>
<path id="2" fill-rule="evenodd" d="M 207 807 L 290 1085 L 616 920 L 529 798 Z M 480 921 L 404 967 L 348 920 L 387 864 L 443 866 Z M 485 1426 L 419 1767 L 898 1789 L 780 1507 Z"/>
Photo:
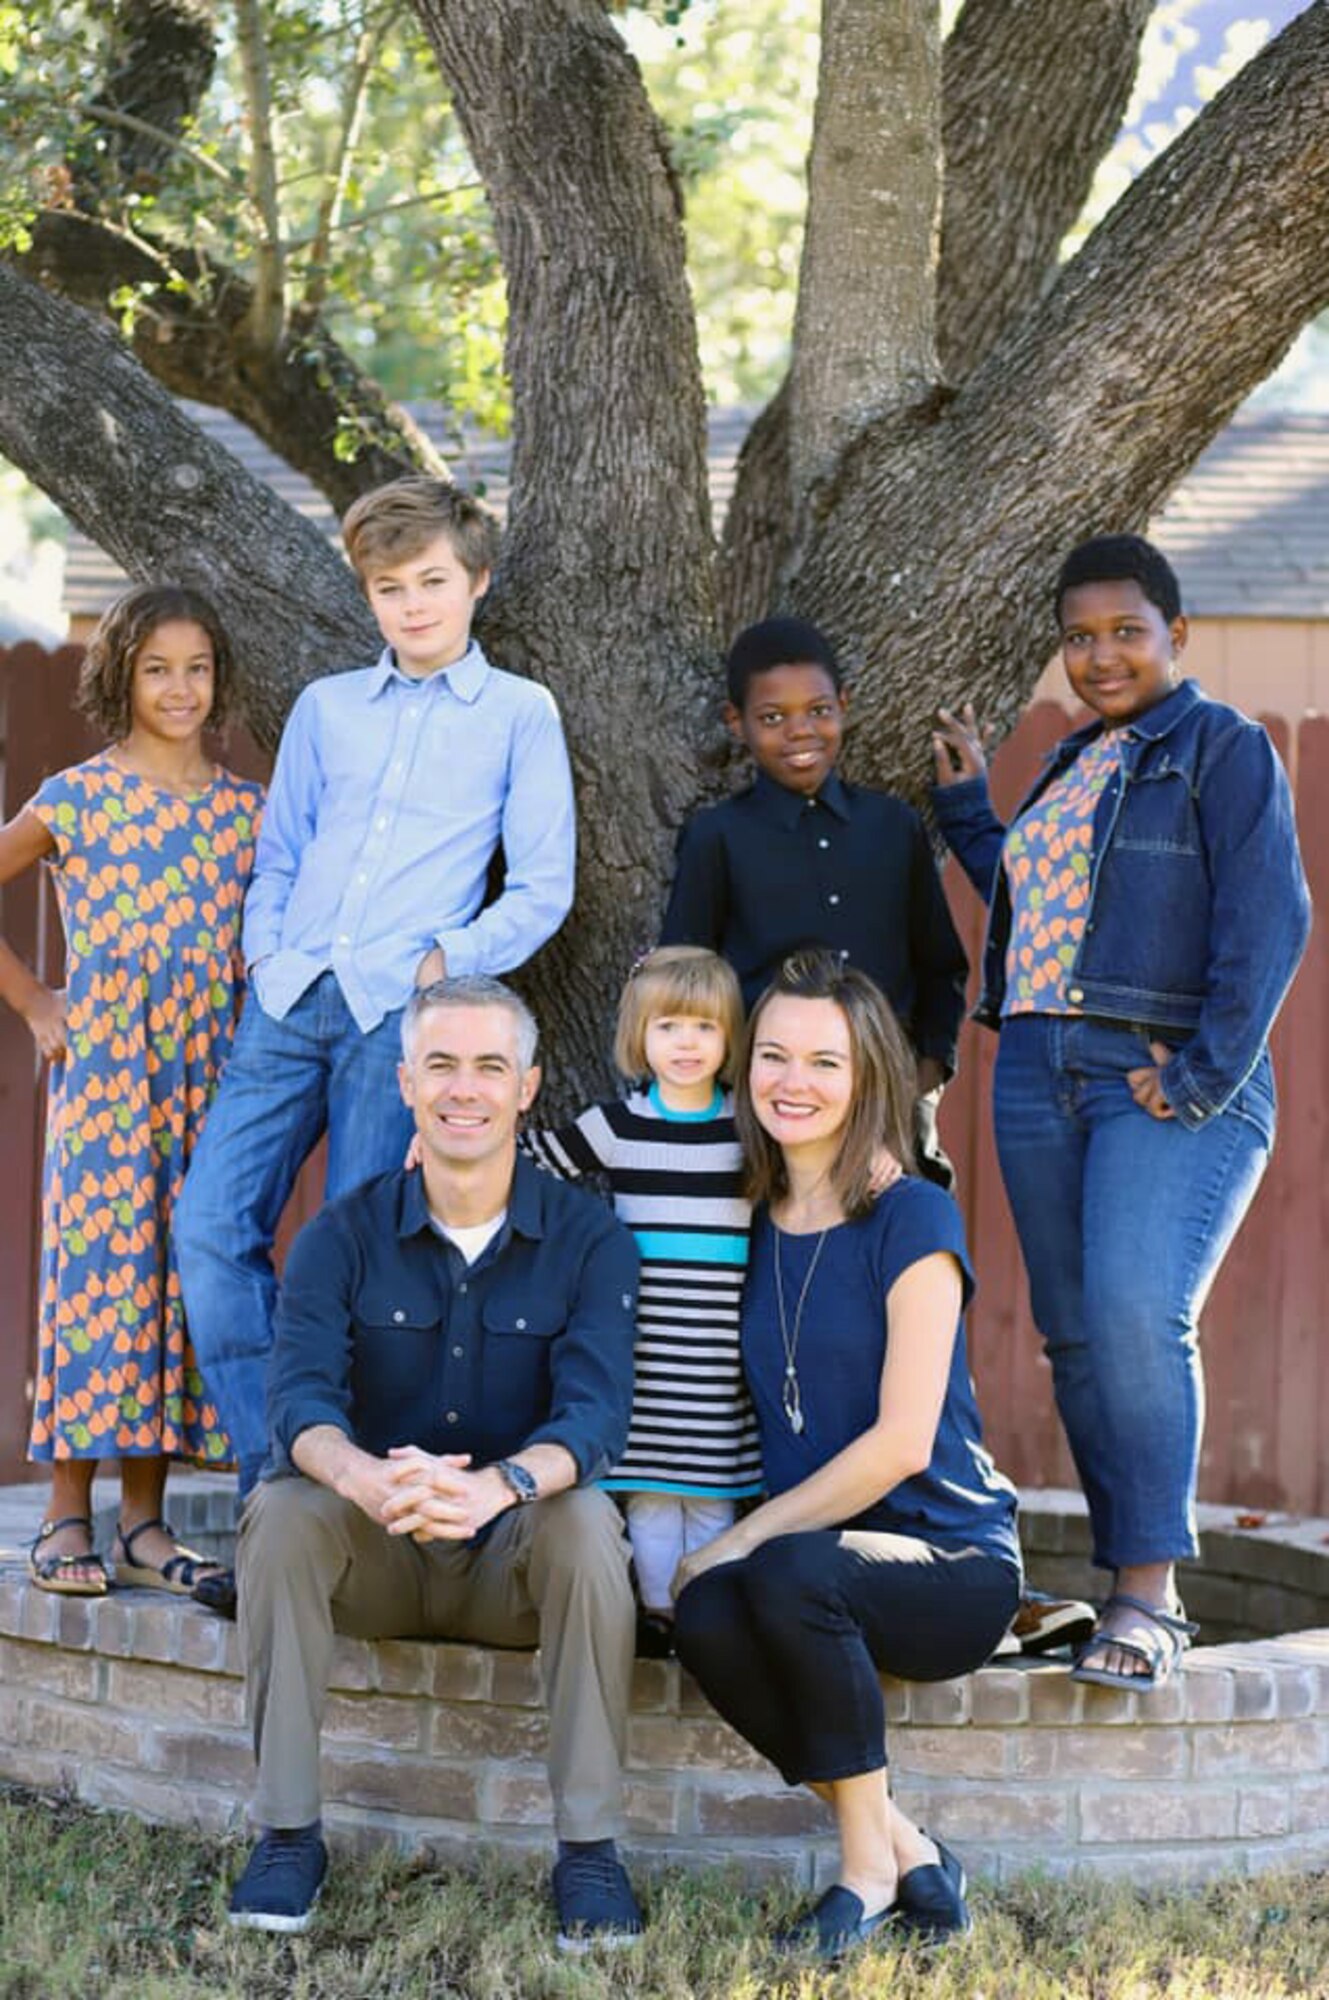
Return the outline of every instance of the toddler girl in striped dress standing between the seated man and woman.
<path id="1" fill-rule="evenodd" d="M 564 1180 L 598 1176 L 640 1250 L 632 1426 L 604 1486 L 626 1496 L 642 1650 L 667 1652 L 683 1556 L 761 1488 L 739 1362 L 749 1202 L 729 1066 L 743 1032 L 733 970 L 691 944 L 650 952 L 618 1004 L 614 1062 L 640 1082 L 526 1152 Z"/>

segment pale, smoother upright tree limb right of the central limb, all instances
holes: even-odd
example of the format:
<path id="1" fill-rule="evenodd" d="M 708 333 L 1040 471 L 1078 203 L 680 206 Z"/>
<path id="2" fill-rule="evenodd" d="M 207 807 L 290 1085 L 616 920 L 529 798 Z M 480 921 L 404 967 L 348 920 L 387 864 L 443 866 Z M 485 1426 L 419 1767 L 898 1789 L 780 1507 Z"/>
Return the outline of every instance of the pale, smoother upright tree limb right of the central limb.
<path id="1" fill-rule="evenodd" d="M 791 370 L 795 506 L 873 416 L 937 378 L 937 0 L 823 0 Z"/>

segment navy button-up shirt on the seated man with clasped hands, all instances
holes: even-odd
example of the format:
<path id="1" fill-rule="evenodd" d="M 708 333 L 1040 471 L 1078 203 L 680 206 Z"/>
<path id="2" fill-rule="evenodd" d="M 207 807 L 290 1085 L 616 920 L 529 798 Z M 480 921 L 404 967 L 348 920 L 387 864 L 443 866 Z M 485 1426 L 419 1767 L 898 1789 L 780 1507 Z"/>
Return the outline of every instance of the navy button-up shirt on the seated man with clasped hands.
<path id="1" fill-rule="evenodd" d="M 276 1462 L 312 1424 L 362 1450 L 562 1444 L 580 1480 L 622 1454 L 636 1246 L 582 1188 L 518 1160 L 474 1264 L 430 1224 L 424 1180 L 390 1172 L 330 1202 L 286 1260 L 268 1372 Z"/>

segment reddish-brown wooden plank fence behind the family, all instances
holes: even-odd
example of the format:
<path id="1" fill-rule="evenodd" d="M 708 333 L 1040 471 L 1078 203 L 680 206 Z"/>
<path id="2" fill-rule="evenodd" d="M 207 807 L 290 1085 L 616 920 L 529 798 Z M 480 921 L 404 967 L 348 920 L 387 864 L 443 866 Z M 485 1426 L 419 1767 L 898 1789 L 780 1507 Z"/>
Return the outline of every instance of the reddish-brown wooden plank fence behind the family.
<path id="1" fill-rule="evenodd" d="M 88 756 L 90 734 L 68 710 L 78 650 L 36 646 L 0 652 L 2 804 L 6 816 L 40 778 Z M 1209 1418 L 1201 1496 L 1249 1508 L 1329 1514 L 1329 718 L 1265 718 L 1297 788 L 1301 844 L 1319 916 L 1311 948 L 1275 1030 L 1279 1146 L 1265 1184 L 1205 1312 Z M 1015 802 L 1043 750 L 1067 728 L 1065 712 L 1029 710 L 993 770 L 1001 808 Z M 260 752 L 238 734 L 228 760 L 262 776 Z M 947 890 L 977 968 L 983 912 L 951 866 Z M 50 890 L 34 876 L 6 884 L 2 924 L 10 944 L 58 978 L 60 934 Z M 961 1074 L 943 1104 L 943 1134 L 961 1176 L 961 1204 L 979 1272 L 971 1352 L 989 1440 L 1021 1484 L 1073 1486 L 1075 1474 L 1053 1410 L 1049 1370 L 1029 1316 L 1029 1296 L 1007 1212 L 991 1132 L 997 1038 L 969 1024 Z M 0 1480 L 22 1476 L 32 1396 L 34 1284 L 40 1210 L 40 1078 L 32 1038 L 0 1014 Z M 294 1216 L 316 1198 L 306 1176 Z M 1049 1190 L 1055 1198 L 1055 1190 Z M 1147 1190 L 1135 1192 L 1147 1200 Z M 290 1220 L 288 1218 L 288 1228 Z"/>

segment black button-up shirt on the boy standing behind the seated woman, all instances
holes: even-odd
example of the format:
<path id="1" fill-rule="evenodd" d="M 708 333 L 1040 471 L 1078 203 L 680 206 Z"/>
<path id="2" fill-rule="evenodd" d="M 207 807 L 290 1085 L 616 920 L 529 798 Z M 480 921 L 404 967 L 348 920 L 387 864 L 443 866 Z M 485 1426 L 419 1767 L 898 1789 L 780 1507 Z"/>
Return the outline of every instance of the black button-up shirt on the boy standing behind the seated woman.
<path id="1" fill-rule="evenodd" d="M 919 1056 L 955 1070 L 969 960 L 923 820 L 831 772 L 815 798 L 765 772 L 683 828 L 660 944 L 707 944 L 743 1000 L 791 952 L 825 946 L 875 978 Z"/>

